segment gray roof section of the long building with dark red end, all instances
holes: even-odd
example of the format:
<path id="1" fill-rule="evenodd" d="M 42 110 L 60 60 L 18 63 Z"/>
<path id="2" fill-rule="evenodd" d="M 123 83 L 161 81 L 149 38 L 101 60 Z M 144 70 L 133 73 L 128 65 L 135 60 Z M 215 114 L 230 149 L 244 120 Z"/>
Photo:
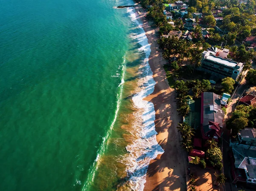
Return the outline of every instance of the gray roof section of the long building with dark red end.
<path id="1" fill-rule="evenodd" d="M 224 112 L 221 110 L 221 99 L 218 98 L 218 95 L 212 92 L 204 92 L 203 104 L 203 126 L 207 125 L 209 131 L 209 121 L 212 121 L 223 127 Z"/>

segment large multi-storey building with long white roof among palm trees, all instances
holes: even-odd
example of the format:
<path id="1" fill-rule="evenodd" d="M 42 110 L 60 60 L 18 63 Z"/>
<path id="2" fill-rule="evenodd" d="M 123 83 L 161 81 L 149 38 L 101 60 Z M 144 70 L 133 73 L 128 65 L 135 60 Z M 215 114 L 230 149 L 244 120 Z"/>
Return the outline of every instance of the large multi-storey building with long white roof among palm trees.
<path id="1" fill-rule="evenodd" d="M 201 66 L 197 69 L 209 74 L 214 74 L 221 79 L 232 77 L 234 80 L 237 80 L 243 69 L 243 63 L 237 63 L 213 54 L 216 54 L 215 51 L 204 51 Z"/>

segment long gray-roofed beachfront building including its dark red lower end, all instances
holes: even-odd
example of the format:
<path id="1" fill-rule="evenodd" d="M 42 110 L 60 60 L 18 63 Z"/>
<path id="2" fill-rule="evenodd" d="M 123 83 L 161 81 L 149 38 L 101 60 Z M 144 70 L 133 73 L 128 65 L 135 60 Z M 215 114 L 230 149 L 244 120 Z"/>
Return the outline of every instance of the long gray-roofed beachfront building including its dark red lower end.
<path id="1" fill-rule="evenodd" d="M 220 96 L 213 92 L 201 94 L 201 134 L 204 141 L 218 141 L 223 128 L 224 111 L 221 109 Z"/>

